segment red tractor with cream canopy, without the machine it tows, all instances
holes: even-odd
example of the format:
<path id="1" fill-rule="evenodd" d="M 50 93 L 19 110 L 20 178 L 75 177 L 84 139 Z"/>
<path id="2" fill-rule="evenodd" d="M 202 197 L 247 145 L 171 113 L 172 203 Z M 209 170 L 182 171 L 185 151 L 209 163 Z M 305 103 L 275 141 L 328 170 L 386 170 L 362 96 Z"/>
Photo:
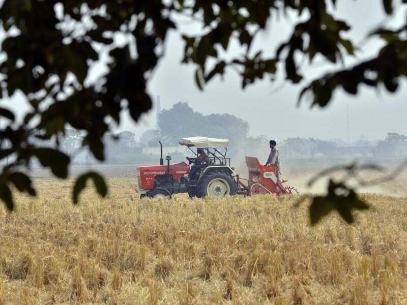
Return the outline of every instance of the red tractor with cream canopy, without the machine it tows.
<path id="1" fill-rule="evenodd" d="M 160 165 L 137 168 L 138 185 L 135 185 L 134 188 L 141 198 L 170 198 L 172 194 L 177 193 L 188 193 L 191 198 L 223 197 L 237 193 L 236 173 L 230 167 L 230 158 L 226 158 L 229 140 L 192 137 L 181 139 L 180 144 L 187 146 L 196 156 L 198 154 L 192 147 L 203 149 L 208 156 L 208 161 L 202 162 L 199 172 L 188 179 L 189 166 L 197 161 L 188 158 L 189 164 L 181 162 L 170 165 L 171 157 L 167 156 L 165 158 L 167 165 L 164 165 L 160 142 Z"/>

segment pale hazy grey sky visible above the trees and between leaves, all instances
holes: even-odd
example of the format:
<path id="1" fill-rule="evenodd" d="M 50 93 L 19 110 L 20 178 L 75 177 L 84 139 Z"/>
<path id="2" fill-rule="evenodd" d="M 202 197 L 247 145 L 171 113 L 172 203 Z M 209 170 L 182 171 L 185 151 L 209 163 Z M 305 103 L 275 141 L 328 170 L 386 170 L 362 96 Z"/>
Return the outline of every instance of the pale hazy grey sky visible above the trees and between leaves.
<path id="1" fill-rule="evenodd" d="M 369 5 L 367 5 L 367 3 Z M 397 25 L 407 16 L 406 10 L 396 10 L 394 16 L 386 18 L 383 14 L 382 1 L 349 1 L 337 2 L 335 15 L 352 25 L 350 38 L 356 43 L 364 40 L 367 34 L 380 22 L 386 25 Z M 262 33 L 253 45 L 253 52 L 263 50 L 273 55 L 277 46 L 285 41 L 297 22 L 291 16 L 289 20 L 273 18 L 267 31 Z M 180 21 L 182 32 L 197 31 L 196 24 L 187 20 Z M 378 40 L 362 43 L 357 58 L 369 58 L 374 55 L 381 42 Z M 229 113 L 247 120 L 250 124 L 250 135 L 266 135 L 280 141 L 286 137 L 317 137 L 322 139 L 342 138 L 346 140 L 346 107 L 350 110 L 351 141 L 365 136 L 370 140 L 384 138 L 387 132 L 407 134 L 405 116 L 407 113 L 407 82 L 396 94 L 390 95 L 383 88 L 379 90 L 360 87 L 358 96 L 350 96 L 342 89 L 336 90 L 333 102 L 327 108 L 309 108 L 307 101 L 297 107 L 298 94 L 306 84 L 293 85 L 284 81 L 284 71 L 275 82 L 263 80 L 241 89 L 241 79 L 235 71 L 228 70 L 223 81 L 216 77 L 200 92 L 194 82 L 194 67 L 181 65 L 184 44 L 180 32 L 172 31 L 166 41 L 165 56 L 161 59 L 148 85 L 152 97 L 161 97 L 161 107 L 170 108 L 179 101 L 188 101 L 196 111 L 204 114 Z M 229 44 L 228 54 L 240 54 L 236 43 Z M 346 58 L 346 65 L 355 62 Z M 314 59 L 313 67 L 305 66 L 306 80 L 325 74 L 329 66 L 321 57 Z M 103 65 L 93 69 L 93 73 L 104 71 Z M 15 95 L 2 104 L 12 105 L 20 113 L 26 108 L 21 95 Z M 144 130 L 156 126 L 156 113 L 152 109 L 143 115 L 138 124 L 134 124 L 129 115 L 124 113 L 118 131 L 131 130 L 139 137 Z M 205 136 L 205 135 L 202 135 Z"/>

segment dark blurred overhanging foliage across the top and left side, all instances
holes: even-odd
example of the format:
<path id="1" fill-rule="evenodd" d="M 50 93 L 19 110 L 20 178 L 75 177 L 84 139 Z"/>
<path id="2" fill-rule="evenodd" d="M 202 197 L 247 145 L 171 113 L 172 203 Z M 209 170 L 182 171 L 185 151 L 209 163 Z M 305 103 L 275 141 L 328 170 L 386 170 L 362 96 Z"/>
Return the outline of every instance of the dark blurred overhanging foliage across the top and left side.
<path id="1" fill-rule="evenodd" d="M 31 110 L 20 123 L 13 111 L 0 108 L 0 116 L 6 121 L 0 140 L 11 144 L 0 145 L 0 158 L 13 156 L 0 174 L 0 198 L 13 208 L 10 185 L 35 195 L 30 177 L 18 170 L 20 166 L 30 167 L 35 158 L 57 177 L 67 177 L 70 158 L 58 139 L 68 127 L 83 133 L 81 145 L 88 146 L 96 159 L 105 159 L 103 137 L 112 123 L 120 123 L 121 112 L 128 109 L 137 121 L 151 109 L 147 82 L 164 53 L 168 31 L 177 29 L 178 16 L 187 16 L 202 26 L 196 35 L 182 36 L 183 62 L 196 67 L 197 86 L 203 89 L 214 77 L 233 68 L 245 88 L 267 76 L 273 79 L 277 67 L 283 67 L 287 80 L 299 83 L 303 79 L 301 57 L 312 62 L 320 55 L 337 63 L 345 54 L 353 55 L 353 43 L 345 38 L 350 26 L 328 9 L 336 2 L 5 0 L 0 8 L 6 32 L 1 45 L 6 56 L 0 63 L 0 98 L 7 99 L 18 91 L 27 98 Z M 391 15 L 393 1 L 383 0 L 383 9 Z M 268 58 L 262 50 L 253 51 L 253 40 L 269 20 L 287 12 L 297 12 L 305 21 L 294 26 L 292 35 L 274 56 Z M 374 58 L 312 81 L 301 96 L 309 93 L 313 105 L 324 107 L 338 87 L 355 95 L 360 84 L 384 84 L 389 92 L 395 92 L 399 77 L 407 75 L 406 32 L 406 25 L 375 29 L 371 36 L 381 38 L 385 46 Z M 118 35 L 124 37 L 120 45 L 113 43 Z M 220 54 L 232 40 L 244 52 L 226 60 Z M 109 57 L 107 72 L 91 81 L 90 69 L 103 54 Z M 52 139 L 57 145 L 41 147 L 31 140 L 33 137 Z M 95 178 L 95 173 L 89 175 L 104 195 L 102 179 Z M 79 187 L 75 187 L 74 198 L 86 177 L 76 182 Z"/>

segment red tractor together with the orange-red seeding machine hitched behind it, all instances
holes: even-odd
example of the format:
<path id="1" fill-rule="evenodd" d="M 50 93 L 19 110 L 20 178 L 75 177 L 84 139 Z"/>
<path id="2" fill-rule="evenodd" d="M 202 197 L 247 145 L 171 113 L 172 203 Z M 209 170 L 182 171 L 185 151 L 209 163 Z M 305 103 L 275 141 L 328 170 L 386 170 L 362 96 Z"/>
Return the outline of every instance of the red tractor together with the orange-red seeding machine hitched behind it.
<path id="1" fill-rule="evenodd" d="M 160 142 L 160 165 L 138 167 L 137 183 L 131 184 L 141 198 L 171 198 L 178 193 L 188 193 L 190 198 L 298 193 L 292 187 L 283 186 L 287 180 L 277 183 L 275 167 L 261 165 L 257 158 L 246 157 L 249 176 L 248 179 L 240 177 L 235 168 L 230 167 L 230 158 L 226 158 L 227 139 L 191 137 L 181 139 L 180 144 L 187 146 L 196 157 L 198 151 L 205 152 L 207 158 L 202 162 L 199 158 L 187 158 L 189 164 L 181 162 L 171 165 L 171 157 L 166 156 L 167 164 L 164 165 Z M 190 177 L 191 164 L 198 165 L 199 169 Z"/>

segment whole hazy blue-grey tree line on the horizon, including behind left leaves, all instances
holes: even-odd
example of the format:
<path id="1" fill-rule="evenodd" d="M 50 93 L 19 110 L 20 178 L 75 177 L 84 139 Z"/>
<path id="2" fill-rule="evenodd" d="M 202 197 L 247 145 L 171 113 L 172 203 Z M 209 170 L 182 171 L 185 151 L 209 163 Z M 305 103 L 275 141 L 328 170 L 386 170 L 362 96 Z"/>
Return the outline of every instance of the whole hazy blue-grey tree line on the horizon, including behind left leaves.
<path id="1" fill-rule="evenodd" d="M 179 102 L 169 109 L 162 110 L 158 117 L 157 129 L 149 129 L 141 135 L 136 135 L 132 131 L 106 134 L 104 136 L 106 161 L 151 163 L 156 161 L 156 155 L 145 156 L 143 147 L 158 147 L 158 141 L 161 141 L 164 146 L 178 146 L 181 138 L 197 135 L 229 139 L 230 156 L 244 153 L 246 147 L 267 148 L 270 139 L 266 135 L 250 137 L 249 129 L 249 123 L 242 118 L 219 113 L 204 115 L 194 111 L 188 103 Z M 86 158 L 90 156 L 81 145 L 84 136 L 84 133 L 78 130 L 67 129 L 65 136 L 59 139 L 51 141 L 34 138 L 33 140 L 41 141 L 38 144 L 42 146 L 59 147 L 72 158 L 73 162 L 82 163 L 85 161 L 84 156 Z M 4 142 L 3 148 L 7 148 L 7 144 Z M 405 153 L 403 149 L 400 150 L 400 147 L 407 146 L 407 136 L 388 133 L 383 140 L 368 141 L 361 137 L 352 143 L 345 143 L 342 139 L 288 137 L 280 141 L 278 146 L 284 158 L 336 158 L 346 154 L 359 154 L 364 157 L 401 157 Z M 176 159 L 183 158 L 184 156 L 178 156 Z"/>

